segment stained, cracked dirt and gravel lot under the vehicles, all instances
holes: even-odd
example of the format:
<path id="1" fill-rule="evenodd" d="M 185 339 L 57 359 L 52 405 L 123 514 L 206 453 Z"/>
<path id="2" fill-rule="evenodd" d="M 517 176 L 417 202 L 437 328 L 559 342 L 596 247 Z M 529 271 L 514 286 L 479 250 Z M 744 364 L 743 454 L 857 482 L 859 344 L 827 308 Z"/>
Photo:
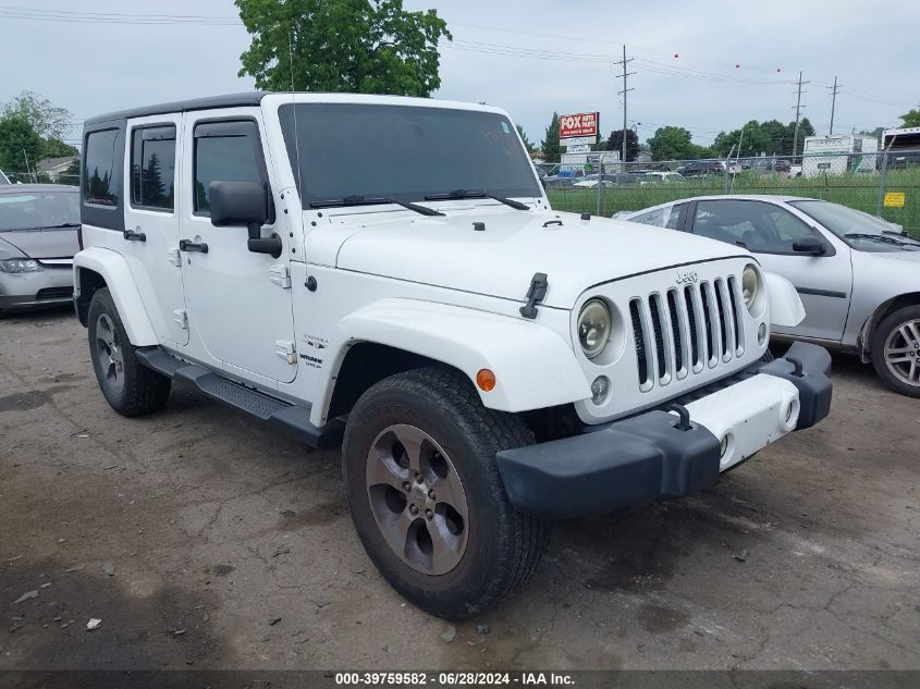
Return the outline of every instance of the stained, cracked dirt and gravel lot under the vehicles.
<path id="1" fill-rule="evenodd" d="M 0 321 L 0 668 L 920 668 L 920 401 L 834 366 L 819 428 L 556 525 L 449 642 L 365 556 L 338 452 L 182 386 L 121 418 L 71 311 Z"/>

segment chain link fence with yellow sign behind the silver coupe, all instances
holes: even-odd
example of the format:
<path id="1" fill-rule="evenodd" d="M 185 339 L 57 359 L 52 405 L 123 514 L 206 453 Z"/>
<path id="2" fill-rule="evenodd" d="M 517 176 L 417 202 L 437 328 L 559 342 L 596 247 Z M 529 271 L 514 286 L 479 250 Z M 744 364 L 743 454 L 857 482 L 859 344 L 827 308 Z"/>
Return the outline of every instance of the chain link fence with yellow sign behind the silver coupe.
<path id="1" fill-rule="evenodd" d="M 820 198 L 884 218 L 920 238 L 920 149 L 543 168 L 556 210 L 611 217 L 694 196 Z"/>

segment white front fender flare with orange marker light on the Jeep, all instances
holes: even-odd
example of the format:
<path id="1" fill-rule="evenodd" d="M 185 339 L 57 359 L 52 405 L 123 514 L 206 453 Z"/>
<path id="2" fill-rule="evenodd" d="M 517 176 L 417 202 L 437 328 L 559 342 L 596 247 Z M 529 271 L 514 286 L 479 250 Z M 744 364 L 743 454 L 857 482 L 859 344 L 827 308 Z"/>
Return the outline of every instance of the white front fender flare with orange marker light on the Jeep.
<path id="1" fill-rule="evenodd" d="M 370 342 L 441 361 L 463 371 L 482 404 L 499 411 L 527 411 L 586 399 L 590 385 L 572 348 L 549 328 L 476 309 L 406 298 L 384 298 L 343 318 L 335 376 L 351 345 Z M 495 387 L 483 392 L 476 374 L 488 368 Z M 326 409 L 322 410 L 322 415 Z"/>

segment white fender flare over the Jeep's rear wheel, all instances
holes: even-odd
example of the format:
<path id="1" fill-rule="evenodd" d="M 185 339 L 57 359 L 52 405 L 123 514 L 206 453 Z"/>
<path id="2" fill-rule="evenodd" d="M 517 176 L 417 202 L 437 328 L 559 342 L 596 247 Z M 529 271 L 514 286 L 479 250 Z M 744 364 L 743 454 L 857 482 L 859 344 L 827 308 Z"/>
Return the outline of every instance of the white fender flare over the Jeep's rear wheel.
<path id="1" fill-rule="evenodd" d="M 101 247 L 90 247 L 74 256 L 74 299 L 81 297 L 79 272 L 82 270 L 99 273 L 106 281 L 131 344 L 136 347 L 159 344 L 124 256 Z"/>

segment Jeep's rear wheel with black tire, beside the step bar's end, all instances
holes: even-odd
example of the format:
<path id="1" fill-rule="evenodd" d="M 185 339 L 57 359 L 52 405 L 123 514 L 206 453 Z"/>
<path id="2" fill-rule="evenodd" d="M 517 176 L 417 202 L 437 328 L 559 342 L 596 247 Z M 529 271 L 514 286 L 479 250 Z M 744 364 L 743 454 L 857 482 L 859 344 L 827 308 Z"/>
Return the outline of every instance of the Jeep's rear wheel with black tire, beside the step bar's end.
<path id="1" fill-rule="evenodd" d="M 137 360 L 108 287 L 93 295 L 87 325 L 93 370 L 109 406 L 127 417 L 161 409 L 172 381 Z"/>

